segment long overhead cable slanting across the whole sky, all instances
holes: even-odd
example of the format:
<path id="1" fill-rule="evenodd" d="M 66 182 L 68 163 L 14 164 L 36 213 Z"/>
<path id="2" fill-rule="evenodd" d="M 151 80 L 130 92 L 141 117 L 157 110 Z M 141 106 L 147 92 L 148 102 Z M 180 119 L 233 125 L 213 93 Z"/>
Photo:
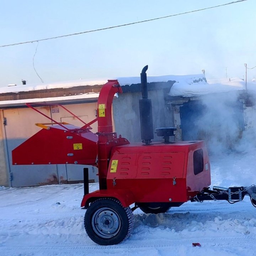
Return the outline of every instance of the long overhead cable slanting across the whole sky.
<path id="1" fill-rule="evenodd" d="M 34 42 L 39 42 L 39 41 L 46 41 L 46 40 L 52 40 L 52 39 L 57 39 L 57 38 L 62 38 L 62 37 L 69 37 L 69 36 L 75 36 L 75 35 L 79 35 L 79 34 L 91 33 L 91 32 L 96 32 L 96 31 L 101 31 L 101 30 L 108 30 L 108 29 L 111 29 L 111 28 L 124 27 L 124 26 L 134 25 L 134 24 L 138 24 L 138 23 L 154 21 L 154 20 L 160 20 L 160 19 L 163 19 L 163 18 L 169 18 L 169 17 L 174 17 L 174 16 L 178 16 L 178 15 L 183 15 L 183 14 L 189 14 L 191 12 L 198 12 L 198 11 L 213 9 L 213 8 L 217 8 L 217 7 L 221 7 L 221 6 L 225 6 L 225 5 L 236 4 L 238 2 L 244 2 L 244 1 L 247 1 L 247 0 L 238 0 L 238 1 L 229 2 L 229 3 L 226 3 L 226 4 L 222 4 L 222 5 L 215 5 L 215 6 L 211 6 L 211 7 L 207 7 L 207 8 L 203 8 L 203 9 L 182 12 L 182 13 L 179 13 L 179 14 L 172 14 L 172 15 L 168 15 L 168 16 L 164 16 L 164 17 L 159 17 L 159 18 L 153 18 L 153 19 L 150 19 L 150 20 L 136 21 L 136 22 L 127 23 L 127 24 L 123 24 L 123 25 L 117 25 L 117 26 L 106 27 L 106 28 L 99 28 L 99 29 L 96 29 L 96 30 L 88 30 L 88 31 L 84 31 L 84 32 L 78 32 L 78 33 L 73 33 L 73 34 L 66 34 L 66 35 L 63 35 L 63 36 L 56 36 L 56 37 L 48 37 L 48 38 L 37 39 L 37 40 L 32 40 L 32 41 L 27 41 L 27 42 L 5 44 L 5 45 L 1 45 L 0 47 L 16 46 L 18 44 L 34 43 Z"/>

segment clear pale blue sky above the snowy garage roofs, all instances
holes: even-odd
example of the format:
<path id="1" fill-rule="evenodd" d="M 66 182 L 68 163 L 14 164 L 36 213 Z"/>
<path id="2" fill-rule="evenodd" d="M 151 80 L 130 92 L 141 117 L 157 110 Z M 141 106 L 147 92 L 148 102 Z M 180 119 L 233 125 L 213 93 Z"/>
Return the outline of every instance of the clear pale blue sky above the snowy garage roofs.
<path id="1" fill-rule="evenodd" d="M 1 0 L 0 45 L 142 21 L 231 0 Z M 256 65 L 256 1 L 39 42 L 44 82 L 148 75 L 245 75 Z M 0 48 L 0 86 L 41 81 L 37 43 Z M 256 68 L 248 71 L 256 77 Z"/>

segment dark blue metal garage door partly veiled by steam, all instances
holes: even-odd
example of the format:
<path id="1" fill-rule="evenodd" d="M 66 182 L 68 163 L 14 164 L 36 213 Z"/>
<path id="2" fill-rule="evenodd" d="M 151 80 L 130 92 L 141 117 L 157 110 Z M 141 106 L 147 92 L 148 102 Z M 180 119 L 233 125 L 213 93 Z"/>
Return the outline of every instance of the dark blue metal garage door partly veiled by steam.
<path id="1" fill-rule="evenodd" d="M 182 140 L 209 140 L 222 135 L 239 138 L 244 130 L 244 109 L 240 101 L 215 105 L 201 101 L 190 101 L 180 107 Z"/>

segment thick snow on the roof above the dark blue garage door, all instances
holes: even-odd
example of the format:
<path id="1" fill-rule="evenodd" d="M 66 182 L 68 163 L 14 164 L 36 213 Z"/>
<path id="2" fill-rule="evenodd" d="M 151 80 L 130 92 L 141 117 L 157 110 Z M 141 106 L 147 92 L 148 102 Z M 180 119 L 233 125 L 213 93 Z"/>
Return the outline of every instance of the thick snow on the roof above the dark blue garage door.
<path id="1" fill-rule="evenodd" d="M 247 82 L 248 90 L 256 90 L 256 84 L 253 82 Z M 245 81 L 240 78 L 229 79 L 214 79 L 191 82 L 189 80 L 180 79 L 176 80 L 171 87 L 170 96 L 183 96 L 191 97 L 204 94 L 212 94 L 216 92 L 229 92 L 245 90 Z"/>

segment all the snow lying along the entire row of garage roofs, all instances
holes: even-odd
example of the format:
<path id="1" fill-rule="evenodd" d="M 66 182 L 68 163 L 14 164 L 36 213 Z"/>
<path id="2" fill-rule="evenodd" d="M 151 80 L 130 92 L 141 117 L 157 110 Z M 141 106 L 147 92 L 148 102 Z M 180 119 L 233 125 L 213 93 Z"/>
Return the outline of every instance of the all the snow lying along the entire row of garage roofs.
<path id="1" fill-rule="evenodd" d="M 108 79 L 117 79 L 121 86 L 131 85 L 131 84 L 140 84 L 140 76 L 136 77 L 117 77 L 117 78 L 108 78 Z M 6 86 L 0 87 L 0 94 L 5 93 L 19 93 L 19 92 L 28 92 L 28 91 L 37 91 L 37 90 L 47 90 L 47 89 L 61 89 L 61 88 L 71 88 L 78 86 L 94 86 L 94 85 L 103 85 L 107 82 L 108 79 L 101 80 L 90 80 L 90 79 L 80 79 L 73 81 L 64 81 L 64 82 L 53 82 L 48 84 L 27 84 L 27 85 L 17 85 L 17 86 Z M 165 76 L 147 76 L 149 83 L 151 82 L 167 82 L 167 81 L 176 81 L 171 87 L 169 95 L 170 96 L 197 96 L 204 94 L 211 94 L 215 92 L 228 92 L 228 91 L 237 91 L 245 89 L 245 81 L 240 78 L 231 78 L 229 79 L 214 79 L 207 80 L 203 74 L 198 75 L 165 75 Z M 255 82 L 247 82 L 248 90 L 256 90 Z M 78 96 L 78 95 L 76 95 Z M 74 97 L 76 97 L 74 96 Z M 68 97 L 55 97 L 55 98 L 46 98 L 46 101 L 58 100 L 68 100 Z M 82 96 L 79 96 L 82 98 Z M 85 96 L 86 98 L 88 97 Z M 35 101 L 36 99 L 30 99 L 30 101 Z M 38 99 L 39 101 L 44 99 Z M 22 101 L 22 100 L 20 100 Z M 24 100 L 27 101 L 27 100 Z M 7 101 L 6 101 L 7 102 Z M 0 105 L 3 104 L 3 101 L 0 101 Z M 5 103 L 4 103 L 5 104 Z"/>

